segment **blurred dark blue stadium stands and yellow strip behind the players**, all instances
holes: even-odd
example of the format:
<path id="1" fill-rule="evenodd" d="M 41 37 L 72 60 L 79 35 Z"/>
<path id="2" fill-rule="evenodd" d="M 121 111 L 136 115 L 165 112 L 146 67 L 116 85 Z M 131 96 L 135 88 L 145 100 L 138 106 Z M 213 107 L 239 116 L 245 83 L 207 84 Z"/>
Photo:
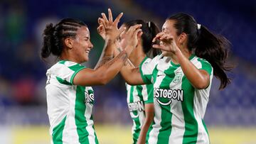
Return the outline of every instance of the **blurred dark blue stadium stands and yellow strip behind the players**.
<path id="1" fill-rule="evenodd" d="M 228 62 L 236 65 L 225 90 L 213 80 L 205 121 L 212 144 L 256 143 L 256 1 L 58 0 L 0 2 L 0 143 L 47 144 L 46 70 L 39 59 L 46 23 L 79 18 L 90 28 L 94 49 L 87 67 L 100 57 L 103 40 L 97 18 L 112 8 L 124 12 L 122 22 L 134 18 L 155 21 L 161 28 L 171 13 L 183 11 L 198 23 L 225 35 L 233 44 Z M 132 120 L 120 76 L 95 89 L 95 128 L 103 144 L 131 143 Z"/>

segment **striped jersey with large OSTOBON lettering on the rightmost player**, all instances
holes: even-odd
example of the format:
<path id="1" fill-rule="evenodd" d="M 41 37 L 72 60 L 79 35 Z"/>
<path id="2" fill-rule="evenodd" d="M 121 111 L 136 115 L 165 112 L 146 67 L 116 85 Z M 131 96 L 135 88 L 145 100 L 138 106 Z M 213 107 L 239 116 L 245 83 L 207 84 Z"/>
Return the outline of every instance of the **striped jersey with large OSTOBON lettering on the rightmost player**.
<path id="1" fill-rule="evenodd" d="M 154 57 L 142 65 L 142 79 L 154 84 L 154 121 L 149 133 L 149 144 L 210 143 L 203 116 L 208 104 L 213 67 L 206 60 L 191 55 L 189 60 L 200 70 L 210 74 L 206 89 L 195 89 L 180 65 L 170 57 Z"/>

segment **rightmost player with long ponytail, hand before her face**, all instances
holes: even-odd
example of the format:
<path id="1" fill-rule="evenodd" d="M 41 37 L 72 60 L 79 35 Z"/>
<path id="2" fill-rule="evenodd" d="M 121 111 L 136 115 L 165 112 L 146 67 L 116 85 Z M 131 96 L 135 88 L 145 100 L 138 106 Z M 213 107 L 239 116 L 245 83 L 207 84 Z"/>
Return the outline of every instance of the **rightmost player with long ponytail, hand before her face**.
<path id="1" fill-rule="evenodd" d="M 213 75 L 220 89 L 230 83 L 225 65 L 230 43 L 186 13 L 166 19 L 154 48 L 163 54 L 146 65 L 122 68 L 128 84 L 154 84 L 152 143 L 210 143 L 203 116 Z"/>

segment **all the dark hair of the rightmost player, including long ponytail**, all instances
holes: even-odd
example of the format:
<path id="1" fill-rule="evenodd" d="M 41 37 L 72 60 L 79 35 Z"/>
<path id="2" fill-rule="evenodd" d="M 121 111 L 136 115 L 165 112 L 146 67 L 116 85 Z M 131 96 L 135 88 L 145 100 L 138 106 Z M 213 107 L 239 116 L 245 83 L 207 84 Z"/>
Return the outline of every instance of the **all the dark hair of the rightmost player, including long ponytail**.
<path id="1" fill-rule="evenodd" d="M 195 19 L 186 13 L 176 13 L 167 20 L 175 21 L 177 35 L 187 34 L 188 50 L 194 50 L 196 56 L 210 62 L 213 74 L 220 79 L 219 89 L 224 89 L 230 84 L 230 78 L 225 73 L 232 69 L 225 64 L 230 42 L 223 35 L 213 34 L 205 26 L 198 25 Z"/>

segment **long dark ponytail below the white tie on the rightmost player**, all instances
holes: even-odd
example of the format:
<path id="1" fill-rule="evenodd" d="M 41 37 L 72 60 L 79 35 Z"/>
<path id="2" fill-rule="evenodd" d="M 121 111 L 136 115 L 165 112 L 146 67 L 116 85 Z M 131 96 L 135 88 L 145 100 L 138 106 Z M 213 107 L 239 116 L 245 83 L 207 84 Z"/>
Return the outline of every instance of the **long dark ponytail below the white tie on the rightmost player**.
<path id="1" fill-rule="evenodd" d="M 220 79 L 219 89 L 224 89 L 230 84 L 225 72 L 232 70 L 232 67 L 225 64 L 228 58 L 230 42 L 222 35 L 210 33 L 205 26 L 201 26 L 200 35 L 196 42 L 195 54 L 206 59 L 213 67 L 213 74 Z"/>

